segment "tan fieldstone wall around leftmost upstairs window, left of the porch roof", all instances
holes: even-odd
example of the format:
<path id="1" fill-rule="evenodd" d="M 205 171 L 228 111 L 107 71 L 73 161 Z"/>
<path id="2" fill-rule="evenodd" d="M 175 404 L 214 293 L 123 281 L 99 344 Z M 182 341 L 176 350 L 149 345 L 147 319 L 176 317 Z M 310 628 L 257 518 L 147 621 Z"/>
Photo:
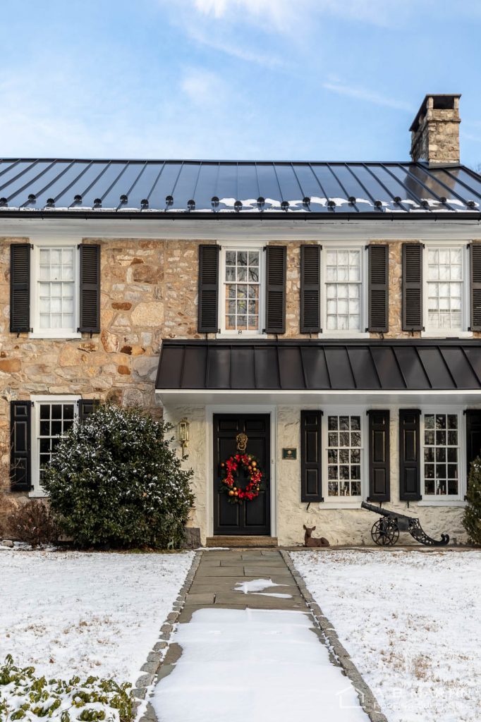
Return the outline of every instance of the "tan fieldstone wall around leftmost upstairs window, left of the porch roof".
<path id="1" fill-rule="evenodd" d="M 76 394 L 140 404 L 161 413 L 155 396 L 161 339 L 196 336 L 197 243 L 84 238 L 100 243 L 100 334 L 30 339 L 9 332 L 10 243 L 0 238 L 0 489 L 9 488 L 9 401 L 33 394 Z"/>

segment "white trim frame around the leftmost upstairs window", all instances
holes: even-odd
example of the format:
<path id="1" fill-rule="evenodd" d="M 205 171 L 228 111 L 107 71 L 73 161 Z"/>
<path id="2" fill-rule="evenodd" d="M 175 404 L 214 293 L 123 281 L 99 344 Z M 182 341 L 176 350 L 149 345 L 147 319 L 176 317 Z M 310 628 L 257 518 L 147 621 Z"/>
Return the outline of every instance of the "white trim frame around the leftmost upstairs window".
<path id="1" fill-rule="evenodd" d="M 39 308 L 38 308 L 38 280 L 40 275 L 40 248 L 74 248 L 74 330 L 40 329 Z M 81 339 L 82 334 L 77 331 L 80 323 L 79 310 L 79 248 L 78 241 L 73 240 L 39 240 L 35 241 L 32 248 L 30 264 L 30 313 L 32 318 L 32 331 L 28 334 L 30 339 Z"/>

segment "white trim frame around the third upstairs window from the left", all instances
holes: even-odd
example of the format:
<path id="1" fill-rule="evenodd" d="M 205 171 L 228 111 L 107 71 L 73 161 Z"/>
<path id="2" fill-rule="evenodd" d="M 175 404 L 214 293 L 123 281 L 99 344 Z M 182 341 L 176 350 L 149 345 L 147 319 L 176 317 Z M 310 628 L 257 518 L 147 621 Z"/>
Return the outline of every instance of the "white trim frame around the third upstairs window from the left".
<path id="1" fill-rule="evenodd" d="M 326 294 L 326 252 L 327 251 L 360 251 L 360 331 L 332 331 L 327 329 L 327 294 Z M 321 333 L 319 339 L 368 339 L 371 334 L 368 327 L 368 249 L 365 243 L 345 241 L 344 243 L 322 243 L 321 250 Z"/>

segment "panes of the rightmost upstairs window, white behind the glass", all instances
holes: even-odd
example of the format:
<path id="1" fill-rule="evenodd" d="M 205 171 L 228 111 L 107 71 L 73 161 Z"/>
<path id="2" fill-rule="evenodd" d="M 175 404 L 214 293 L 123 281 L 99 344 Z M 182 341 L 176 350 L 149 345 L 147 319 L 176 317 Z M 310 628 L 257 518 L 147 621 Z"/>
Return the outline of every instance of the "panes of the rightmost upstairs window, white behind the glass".
<path id="1" fill-rule="evenodd" d="M 462 330 L 462 248 L 428 248 L 428 329 Z"/>

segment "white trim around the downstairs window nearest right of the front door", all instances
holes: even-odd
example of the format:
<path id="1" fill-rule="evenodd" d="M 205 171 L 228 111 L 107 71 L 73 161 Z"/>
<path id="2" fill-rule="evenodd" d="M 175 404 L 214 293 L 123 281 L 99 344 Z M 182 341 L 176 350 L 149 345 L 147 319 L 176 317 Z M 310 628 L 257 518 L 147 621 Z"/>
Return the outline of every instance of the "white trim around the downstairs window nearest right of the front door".
<path id="1" fill-rule="evenodd" d="M 366 413 L 371 406 L 322 406 L 322 421 L 321 421 L 321 443 L 322 443 L 322 458 L 321 458 L 321 473 L 322 473 L 322 497 L 324 502 L 321 503 L 322 509 L 360 509 L 361 502 L 368 498 L 369 494 L 369 444 L 368 444 L 368 414 Z M 327 417 L 329 414 L 333 416 L 359 416 L 360 417 L 360 432 L 361 432 L 361 493 L 360 497 L 351 497 L 350 500 L 346 500 L 347 497 L 329 497 L 329 479 L 327 478 L 327 452 L 329 446 L 328 430 L 327 430 Z M 342 499 L 342 501 L 340 501 Z"/>

